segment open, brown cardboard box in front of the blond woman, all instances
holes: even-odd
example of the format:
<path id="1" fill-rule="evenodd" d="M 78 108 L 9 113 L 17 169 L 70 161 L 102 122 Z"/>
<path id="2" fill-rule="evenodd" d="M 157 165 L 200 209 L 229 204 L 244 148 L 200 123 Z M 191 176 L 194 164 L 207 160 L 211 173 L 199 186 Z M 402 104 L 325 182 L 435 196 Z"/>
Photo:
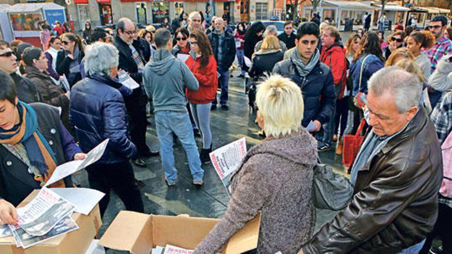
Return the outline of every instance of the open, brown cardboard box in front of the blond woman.
<path id="1" fill-rule="evenodd" d="M 99 244 L 133 254 L 148 254 L 153 247 L 166 244 L 194 249 L 217 222 L 218 219 L 120 211 Z M 256 248 L 259 225 L 260 213 L 235 233 L 221 253 L 237 254 Z"/>

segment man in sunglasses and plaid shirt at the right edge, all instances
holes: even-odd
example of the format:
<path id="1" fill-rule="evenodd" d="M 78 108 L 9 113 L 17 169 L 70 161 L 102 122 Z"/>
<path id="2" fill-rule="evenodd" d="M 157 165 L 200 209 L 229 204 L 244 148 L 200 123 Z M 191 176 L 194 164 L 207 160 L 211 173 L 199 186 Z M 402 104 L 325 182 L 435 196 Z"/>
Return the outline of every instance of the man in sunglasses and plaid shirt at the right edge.
<path id="1" fill-rule="evenodd" d="M 452 53 L 452 42 L 444 36 L 444 31 L 447 28 L 447 17 L 444 15 L 436 15 L 431 19 L 429 24 L 429 30 L 436 37 L 436 43 L 429 50 L 425 51 L 424 54 L 431 62 L 431 73 L 436 69 L 436 65 L 441 57 L 445 54 Z M 428 97 L 430 99 L 431 107 L 434 108 L 435 105 L 441 98 L 441 92 L 436 91 L 432 88 L 428 90 Z"/>

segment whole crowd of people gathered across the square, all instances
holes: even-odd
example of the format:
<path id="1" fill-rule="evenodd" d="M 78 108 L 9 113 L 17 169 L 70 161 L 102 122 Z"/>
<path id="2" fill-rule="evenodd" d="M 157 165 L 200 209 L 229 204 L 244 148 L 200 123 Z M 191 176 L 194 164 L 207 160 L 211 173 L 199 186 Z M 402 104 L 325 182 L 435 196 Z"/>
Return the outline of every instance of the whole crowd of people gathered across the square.
<path id="1" fill-rule="evenodd" d="M 130 161 L 146 167 L 143 158 L 160 155 L 167 185 L 177 184 L 175 140 L 193 184 L 203 185 L 202 165 L 215 148 L 210 113 L 218 105 L 229 110 L 237 58 L 266 139 L 233 173 L 228 208 L 194 253 L 218 252 L 259 211 L 257 253 L 428 253 L 437 236 L 444 253 L 452 252 L 452 42 L 445 16 L 387 40 L 365 28 L 345 44 L 317 15 L 298 27 L 285 22 L 280 34 L 259 21 L 231 31 L 222 17 L 206 19 L 195 11 L 139 29 L 123 17 L 115 32 L 87 22 L 83 38 L 50 36 L 44 50 L 0 41 L 1 223 L 17 220 L 14 207 L 56 166 L 84 159 L 105 139 L 104 155 L 86 168 L 90 187 L 106 193 L 101 216 L 111 189 L 127 210 L 144 211 L 143 183 Z M 120 71 L 138 88 L 121 84 Z M 146 143 L 148 113 L 159 151 Z M 348 169 L 353 196 L 313 232 L 318 152 L 335 146 L 341 155 L 344 136 L 360 126 L 366 134 Z M 54 184 L 71 185 L 70 177 Z"/>

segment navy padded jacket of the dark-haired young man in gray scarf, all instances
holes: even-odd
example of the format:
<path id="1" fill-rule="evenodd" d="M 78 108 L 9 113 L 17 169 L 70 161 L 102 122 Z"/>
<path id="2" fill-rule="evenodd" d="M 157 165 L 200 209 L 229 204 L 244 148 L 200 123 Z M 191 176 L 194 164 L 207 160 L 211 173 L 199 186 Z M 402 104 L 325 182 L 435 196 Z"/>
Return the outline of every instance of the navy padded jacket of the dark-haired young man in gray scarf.
<path id="1" fill-rule="evenodd" d="M 273 73 L 289 77 L 302 89 L 305 104 L 302 121 L 304 127 L 308 126 L 310 121 L 318 120 L 323 124 L 332 117 L 336 95 L 333 75 L 328 66 L 318 61 L 312 71 L 306 77 L 302 77 L 298 75 L 295 64 L 289 59 L 277 63 Z"/>

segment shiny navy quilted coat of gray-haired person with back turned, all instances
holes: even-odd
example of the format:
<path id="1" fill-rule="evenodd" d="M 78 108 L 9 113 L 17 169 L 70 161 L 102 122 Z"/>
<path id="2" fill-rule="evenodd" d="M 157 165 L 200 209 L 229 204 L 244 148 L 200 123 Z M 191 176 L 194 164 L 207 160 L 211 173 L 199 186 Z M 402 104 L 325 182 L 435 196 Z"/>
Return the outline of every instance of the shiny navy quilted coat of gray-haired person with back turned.
<path id="1" fill-rule="evenodd" d="M 69 122 L 82 150 L 88 152 L 110 139 L 99 164 L 124 162 L 137 153 L 127 130 L 127 113 L 120 90 L 131 93 L 120 83 L 100 75 L 85 77 L 71 89 Z"/>

